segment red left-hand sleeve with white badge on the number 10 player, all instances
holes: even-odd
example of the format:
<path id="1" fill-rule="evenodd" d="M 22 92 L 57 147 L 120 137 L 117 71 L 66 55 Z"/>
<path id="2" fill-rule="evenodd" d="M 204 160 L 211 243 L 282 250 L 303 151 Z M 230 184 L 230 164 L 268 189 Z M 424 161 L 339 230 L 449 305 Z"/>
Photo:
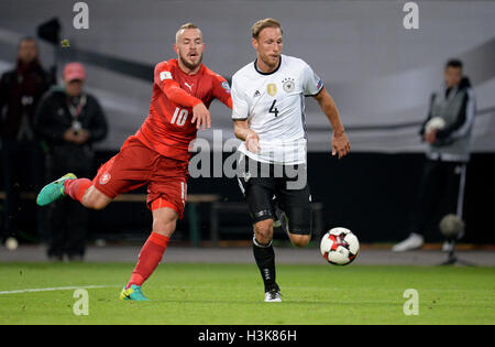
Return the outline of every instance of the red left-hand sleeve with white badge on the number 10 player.
<path id="1" fill-rule="evenodd" d="M 195 98 L 180 88 L 180 85 L 174 80 L 170 65 L 167 62 L 156 64 L 154 80 L 160 89 L 165 93 L 167 98 L 174 104 L 184 107 L 195 107 L 202 102 L 200 99 Z"/>

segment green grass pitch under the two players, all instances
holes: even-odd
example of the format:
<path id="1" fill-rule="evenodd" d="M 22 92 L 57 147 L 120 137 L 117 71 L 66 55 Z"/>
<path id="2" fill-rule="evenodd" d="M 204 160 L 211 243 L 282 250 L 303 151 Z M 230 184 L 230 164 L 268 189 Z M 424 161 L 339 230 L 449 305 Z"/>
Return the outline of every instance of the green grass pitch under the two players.
<path id="1" fill-rule="evenodd" d="M 495 324 L 495 268 L 278 265 L 283 303 L 266 304 L 254 264 L 162 263 L 143 285 L 152 302 L 119 293 L 134 264 L 2 263 L 0 324 Z M 87 289 L 88 315 L 74 290 Z M 418 292 L 405 315 L 404 291 Z"/>

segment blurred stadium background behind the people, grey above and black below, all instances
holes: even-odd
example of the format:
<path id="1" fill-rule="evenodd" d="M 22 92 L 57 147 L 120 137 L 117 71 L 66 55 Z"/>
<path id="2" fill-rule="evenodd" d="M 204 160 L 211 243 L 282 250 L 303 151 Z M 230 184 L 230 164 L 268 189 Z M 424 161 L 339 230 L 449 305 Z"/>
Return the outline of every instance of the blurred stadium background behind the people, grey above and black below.
<path id="1" fill-rule="evenodd" d="M 251 25 L 261 18 L 278 19 L 284 26 L 284 53 L 304 58 L 323 78 L 352 147 L 344 160 L 331 158 L 330 126 L 308 99 L 309 182 L 314 202 L 322 208 L 319 228 L 345 226 L 366 243 L 394 242 L 408 235 L 425 158 L 419 123 L 429 95 L 442 82 L 444 62 L 461 58 L 477 102 L 463 241 L 495 243 L 495 2 L 417 1 L 417 30 L 403 26 L 406 1 L 87 0 L 87 30 L 73 26 L 75 2 L 2 0 L 0 73 L 13 67 L 22 36 L 36 36 L 40 25 L 56 19 L 61 31 L 54 42 L 41 40 L 41 61 L 45 68 L 56 66 L 58 77 L 67 62 L 79 61 L 87 67 L 86 88 L 102 104 L 110 130 L 98 144 L 96 166 L 113 155 L 147 116 L 153 67 L 175 57 L 173 43 L 179 25 L 191 21 L 202 29 L 205 64 L 230 78 L 255 57 Z M 70 47 L 62 47 L 62 40 L 68 40 Z M 213 129 L 223 131 L 223 140 L 233 138 L 228 109 L 217 102 L 211 115 Z M 213 129 L 199 132 L 199 138 L 212 141 Z M 227 177 L 190 180 L 188 192 L 218 195 L 219 203 L 230 206 L 242 200 L 238 183 Z M 220 245 L 250 240 L 246 209 L 222 209 L 224 204 L 219 203 L 189 204 L 175 240 L 209 245 L 212 228 Z M 212 220 L 215 208 L 217 220 Z M 24 216 L 25 239 L 36 240 L 38 236 L 30 234 L 34 203 Z M 429 242 L 441 240 L 436 227 L 430 226 Z M 114 203 L 92 213 L 90 236 L 92 240 L 143 240 L 150 228 L 151 214 L 144 203 Z M 284 235 L 276 238 L 286 239 Z"/>

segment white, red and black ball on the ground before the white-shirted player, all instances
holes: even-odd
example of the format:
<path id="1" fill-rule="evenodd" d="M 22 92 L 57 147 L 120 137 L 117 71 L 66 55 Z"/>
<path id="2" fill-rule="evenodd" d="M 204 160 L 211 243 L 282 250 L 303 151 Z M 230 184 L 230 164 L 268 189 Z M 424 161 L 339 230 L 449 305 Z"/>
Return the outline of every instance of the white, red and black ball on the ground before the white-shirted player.
<path id="1" fill-rule="evenodd" d="M 321 238 L 320 251 L 329 263 L 346 265 L 358 257 L 360 241 L 351 230 L 333 228 Z"/>

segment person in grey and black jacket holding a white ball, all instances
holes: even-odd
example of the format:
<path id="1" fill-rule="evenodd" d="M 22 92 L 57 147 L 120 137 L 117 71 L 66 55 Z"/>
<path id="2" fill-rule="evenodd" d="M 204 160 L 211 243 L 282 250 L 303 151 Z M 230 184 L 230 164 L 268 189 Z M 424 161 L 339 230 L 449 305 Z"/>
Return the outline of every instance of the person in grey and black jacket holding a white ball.
<path id="1" fill-rule="evenodd" d="M 394 251 L 421 248 L 425 230 L 439 208 L 442 215 L 454 214 L 462 219 L 475 99 L 470 79 L 462 74 L 461 61 L 449 61 L 443 77 L 440 90 L 431 95 L 428 117 L 420 129 L 428 150 L 411 234 L 395 245 Z M 451 247 L 446 241 L 442 249 L 449 251 Z"/>

